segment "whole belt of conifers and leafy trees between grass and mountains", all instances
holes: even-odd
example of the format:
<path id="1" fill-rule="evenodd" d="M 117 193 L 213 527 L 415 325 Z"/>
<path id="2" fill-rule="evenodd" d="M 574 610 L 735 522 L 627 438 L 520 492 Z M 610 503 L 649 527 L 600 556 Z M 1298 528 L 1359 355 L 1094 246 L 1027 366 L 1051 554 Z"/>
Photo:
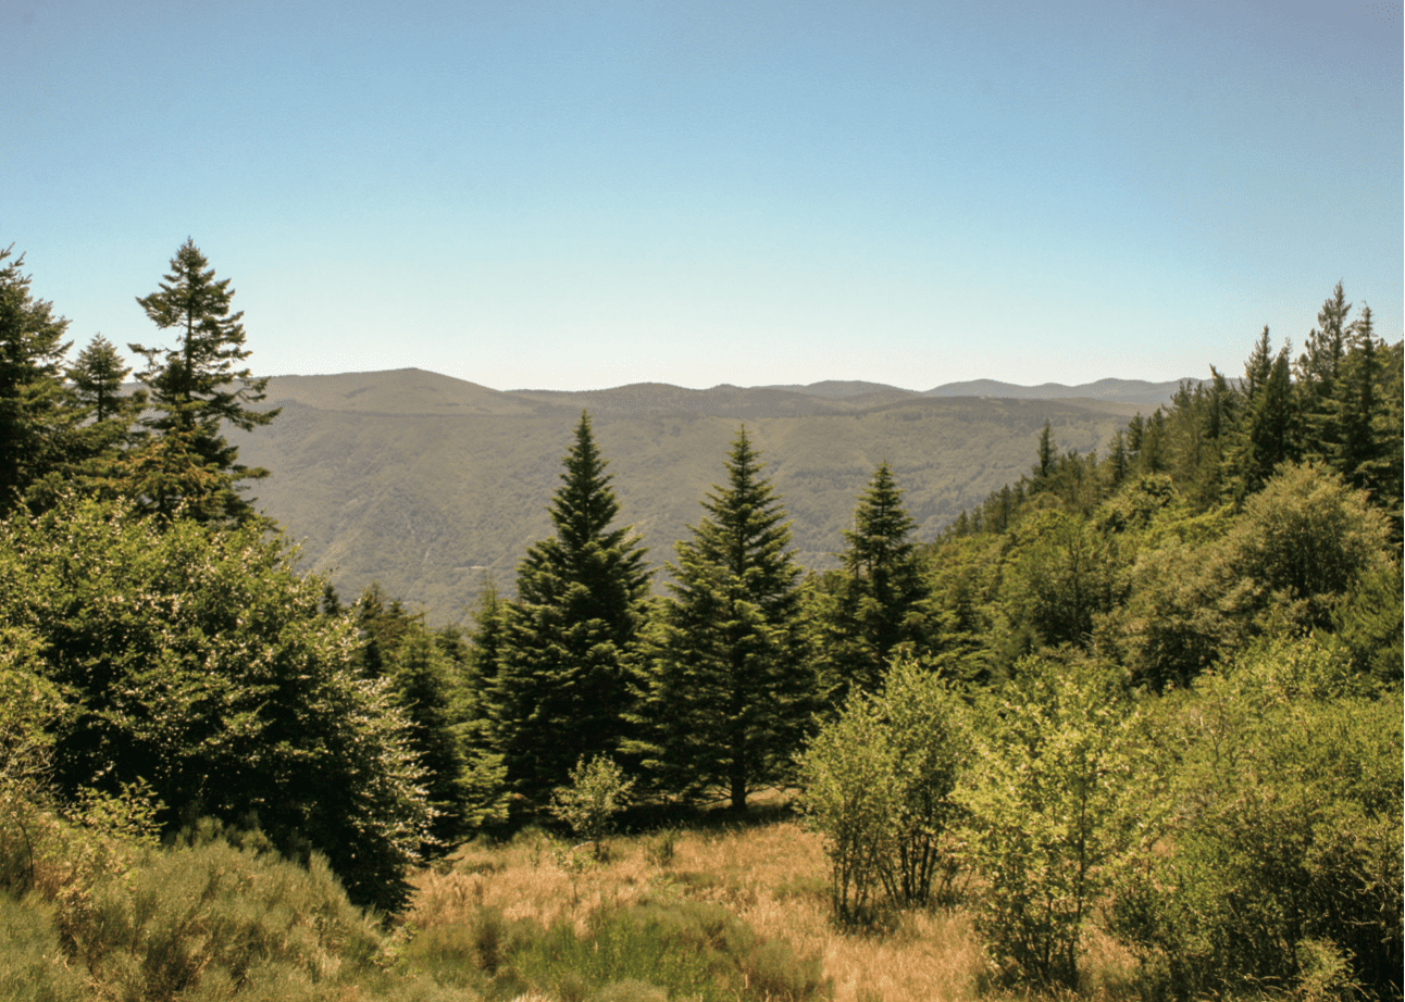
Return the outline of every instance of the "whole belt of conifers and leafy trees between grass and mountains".
<path id="1" fill-rule="evenodd" d="M 1264 330 L 1242 379 L 1183 386 L 1103 456 L 1045 425 L 1030 474 L 936 540 L 878 463 L 826 573 L 797 564 L 742 425 L 656 592 L 582 414 L 554 535 L 461 632 L 296 571 L 244 490 L 264 472 L 222 435 L 275 411 L 194 243 L 138 299 L 176 344 L 131 345 L 136 393 L 101 338 L 65 363 L 20 265 L 0 271 L 0 669 L 24 697 L 0 737 L 60 800 L 257 828 L 395 911 L 407 866 L 559 803 L 592 762 L 665 804 L 798 787 L 843 921 L 979 873 L 996 960 L 1037 981 L 1076 980 L 1096 907 L 1177 996 L 1333 958 L 1398 995 L 1380 832 L 1399 790 L 1361 749 L 1399 758 L 1402 347 L 1340 285 L 1297 359 Z M 1300 843 L 1255 848 L 1270 831 Z M 1252 949 L 1201 918 L 1263 901 Z"/>

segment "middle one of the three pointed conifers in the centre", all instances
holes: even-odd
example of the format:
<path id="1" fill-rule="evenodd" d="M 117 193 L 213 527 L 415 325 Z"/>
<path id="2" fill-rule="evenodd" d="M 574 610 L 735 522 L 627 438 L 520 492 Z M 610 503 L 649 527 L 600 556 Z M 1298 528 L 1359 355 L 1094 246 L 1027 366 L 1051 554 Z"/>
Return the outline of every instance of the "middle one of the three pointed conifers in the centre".
<path id="1" fill-rule="evenodd" d="M 728 486 L 712 488 L 708 516 L 674 547 L 645 709 L 655 727 L 646 765 L 660 784 L 688 799 L 721 790 L 736 810 L 788 776 L 816 690 L 790 523 L 760 470 L 743 427 Z"/>

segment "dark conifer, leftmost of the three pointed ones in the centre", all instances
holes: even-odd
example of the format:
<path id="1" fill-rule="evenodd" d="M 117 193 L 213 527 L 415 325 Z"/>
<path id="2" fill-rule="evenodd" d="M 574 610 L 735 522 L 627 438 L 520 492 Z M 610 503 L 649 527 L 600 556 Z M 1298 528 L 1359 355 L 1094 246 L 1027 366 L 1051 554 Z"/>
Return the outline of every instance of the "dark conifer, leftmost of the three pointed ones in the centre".
<path id="1" fill-rule="evenodd" d="M 632 710 L 629 660 L 649 591 L 645 550 L 620 511 L 582 413 L 551 507 L 556 535 L 517 568 L 497 678 L 509 782 L 545 801 L 584 756 L 614 755 Z"/>

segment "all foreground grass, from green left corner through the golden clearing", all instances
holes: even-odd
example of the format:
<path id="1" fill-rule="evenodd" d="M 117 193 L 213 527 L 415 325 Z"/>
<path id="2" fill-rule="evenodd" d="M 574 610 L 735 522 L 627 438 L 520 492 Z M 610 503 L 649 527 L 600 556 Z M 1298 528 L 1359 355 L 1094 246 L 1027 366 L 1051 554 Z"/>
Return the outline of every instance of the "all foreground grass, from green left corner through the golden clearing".
<path id="1" fill-rule="evenodd" d="M 4 834 L 17 817 L 3 818 Z M 995 985 L 960 908 L 903 912 L 885 935 L 842 932 L 818 836 L 774 807 L 750 818 L 615 838 L 603 860 L 535 828 L 472 843 L 414 874 L 412 911 L 384 926 L 320 862 L 296 866 L 237 834 L 160 849 L 34 810 L 32 877 L 21 841 L 0 839 L 0 856 L 15 856 L 0 867 L 0 998 L 1033 998 Z M 1132 958 L 1116 943 L 1094 936 L 1083 970 L 1080 998 L 1137 998 Z"/>

